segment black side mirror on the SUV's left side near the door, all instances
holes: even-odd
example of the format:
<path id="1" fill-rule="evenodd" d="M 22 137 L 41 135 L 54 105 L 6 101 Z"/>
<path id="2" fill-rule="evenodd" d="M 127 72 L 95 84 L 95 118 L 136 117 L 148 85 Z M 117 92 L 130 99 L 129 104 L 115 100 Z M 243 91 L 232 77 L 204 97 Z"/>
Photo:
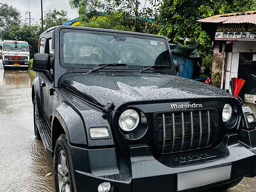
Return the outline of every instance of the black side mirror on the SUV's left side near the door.
<path id="1" fill-rule="evenodd" d="M 44 74 L 50 74 L 51 58 L 46 53 L 36 53 L 33 59 L 33 70 L 36 72 L 43 72 Z"/>

